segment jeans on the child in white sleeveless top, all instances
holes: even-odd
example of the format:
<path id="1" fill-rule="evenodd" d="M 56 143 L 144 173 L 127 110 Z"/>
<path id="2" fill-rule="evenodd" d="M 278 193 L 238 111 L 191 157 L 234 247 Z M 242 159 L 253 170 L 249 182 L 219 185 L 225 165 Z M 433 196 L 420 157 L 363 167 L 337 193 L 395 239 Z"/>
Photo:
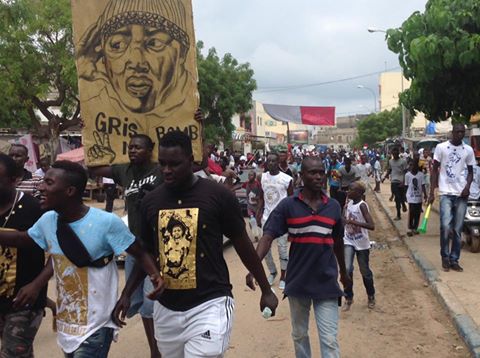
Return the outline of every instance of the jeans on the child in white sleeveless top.
<path id="1" fill-rule="evenodd" d="M 352 245 L 345 245 L 345 266 L 347 267 L 347 272 L 352 279 L 351 285 L 345 287 L 345 296 L 348 299 L 353 298 L 353 260 L 355 255 L 357 255 L 358 267 L 360 273 L 362 274 L 363 285 L 367 291 L 368 296 L 375 295 L 375 286 L 373 285 L 373 273 L 370 270 L 369 260 L 370 260 L 370 250 L 358 250 L 355 251 L 355 248 Z"/>

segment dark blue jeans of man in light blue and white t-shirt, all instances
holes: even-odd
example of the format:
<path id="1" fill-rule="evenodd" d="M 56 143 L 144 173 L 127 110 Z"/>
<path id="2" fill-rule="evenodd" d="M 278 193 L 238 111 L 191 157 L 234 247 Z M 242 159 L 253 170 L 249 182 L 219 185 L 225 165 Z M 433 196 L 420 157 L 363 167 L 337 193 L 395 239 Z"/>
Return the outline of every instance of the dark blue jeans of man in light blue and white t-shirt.
<path id="1" fill-rule="evenodd" d="M 65 358 L 106 358 L 113 340 L 113 328 L 103 327 L 88 337 L 72 353 L 65 353 Z"/>

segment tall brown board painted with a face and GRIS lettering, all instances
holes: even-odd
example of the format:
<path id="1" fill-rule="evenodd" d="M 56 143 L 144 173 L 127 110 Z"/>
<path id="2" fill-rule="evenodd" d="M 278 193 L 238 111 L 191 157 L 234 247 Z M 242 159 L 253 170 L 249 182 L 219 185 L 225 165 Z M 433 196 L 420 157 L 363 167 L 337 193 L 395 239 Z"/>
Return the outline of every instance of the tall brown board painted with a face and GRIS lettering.
<path id="1" fill-rule="evenodd" d="M 126 163 L 132 135 L 158 146 L 174 129 L 201 160 L 191 0 L 72 0 L 72 15 L 87 165 Z"/>

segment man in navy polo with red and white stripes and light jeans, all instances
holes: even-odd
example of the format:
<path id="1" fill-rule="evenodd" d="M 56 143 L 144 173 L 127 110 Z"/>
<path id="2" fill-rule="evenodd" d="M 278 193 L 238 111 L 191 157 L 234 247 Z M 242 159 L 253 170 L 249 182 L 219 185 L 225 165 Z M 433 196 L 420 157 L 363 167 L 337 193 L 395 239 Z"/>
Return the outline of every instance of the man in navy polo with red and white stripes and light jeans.
<path id="1" fill-rule="evenodd" d="M 308 321 L 313 305 L 322 357 L 339 357 L 338 304 L 343 291 L 338 284 L 338 269 L 343 286 L 350 282 L 345 268 L 341 208 L 323 192 L 326 175 L 320 158 L 306 157 L 300 175 L 304 188 L 283 199 L 270 214 L 257 254 L 263 259 L 272 241 L 288 233 L 291 246 L 285 295 L 290 304 L 295 355 L 311 356 Z M 247 284 L 254 289 L 251 274 L 247 275 Z"/>

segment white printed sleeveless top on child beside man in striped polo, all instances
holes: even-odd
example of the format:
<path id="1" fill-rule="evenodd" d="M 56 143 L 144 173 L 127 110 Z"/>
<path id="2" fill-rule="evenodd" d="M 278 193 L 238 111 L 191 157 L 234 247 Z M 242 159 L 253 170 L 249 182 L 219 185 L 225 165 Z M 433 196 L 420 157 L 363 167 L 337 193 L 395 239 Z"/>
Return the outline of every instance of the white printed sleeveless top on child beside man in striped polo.
<path id="1" fill-rule="evenodd" d="M 353 203 L 353 200 L 349 200 L 346 209 L 346 218 L 348 220 L 354 220 L 361 223 L 367 222 L 363 217 L 362 210 L 360 209 L 360 205 L 365 204 L 366 202 L 360 200 L 357 204 Z M 367 205 L 368 208 L 368 205 Z M 368 238 L 368 230 L 357 226 L 347 224 L 345 225 L 345 233 L 343 236 L 343 243 L 345 245 L 350 245 L 355 248 L 356 251 L 358 250 L 368 250 L 370 249 L 370 239 Z"/>

